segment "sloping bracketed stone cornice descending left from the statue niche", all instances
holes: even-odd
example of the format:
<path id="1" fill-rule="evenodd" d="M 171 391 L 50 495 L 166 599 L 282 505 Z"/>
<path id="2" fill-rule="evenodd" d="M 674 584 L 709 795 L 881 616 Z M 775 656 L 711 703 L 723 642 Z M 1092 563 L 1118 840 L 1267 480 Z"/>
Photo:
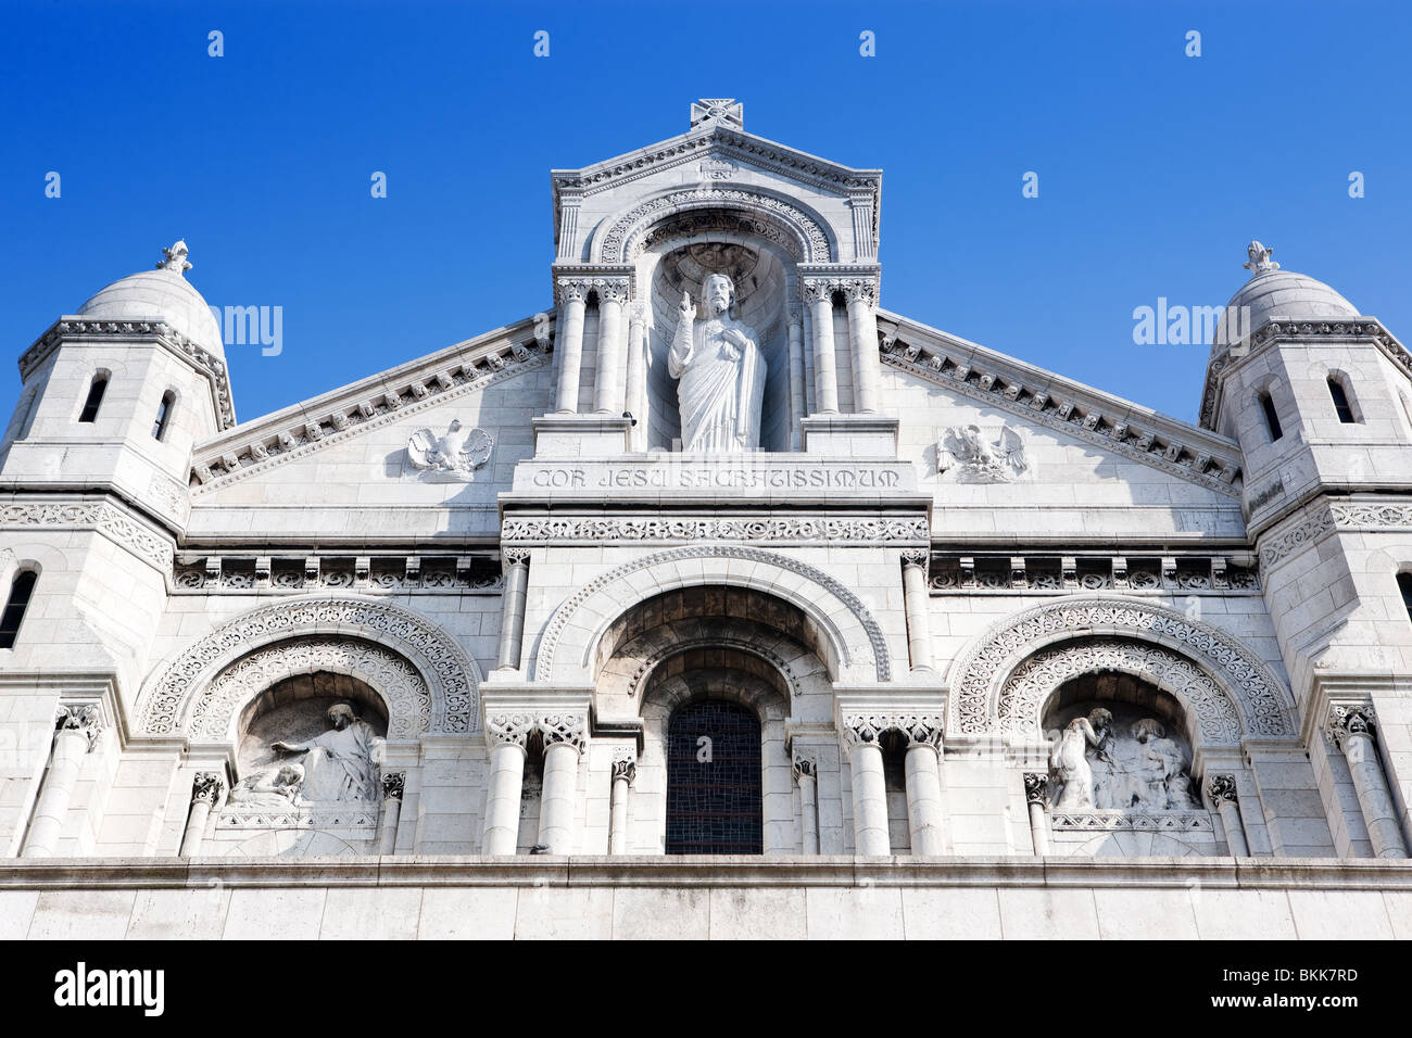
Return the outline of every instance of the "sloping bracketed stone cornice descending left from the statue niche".
<path id="1" fill-rule="evenodd" d="M 359 383 L 339 400 L 287 415 L 282 424 L 261 422 L 239 438 L 227 435 L 201 445 L 193 451 L 192 496 L 542 367 L 549 349 L 548 342 L 534 338 L 497 338 L 466 353 L 443 350 L 432 359 L 435 364 L 428 362 L 400 381 Z"/>

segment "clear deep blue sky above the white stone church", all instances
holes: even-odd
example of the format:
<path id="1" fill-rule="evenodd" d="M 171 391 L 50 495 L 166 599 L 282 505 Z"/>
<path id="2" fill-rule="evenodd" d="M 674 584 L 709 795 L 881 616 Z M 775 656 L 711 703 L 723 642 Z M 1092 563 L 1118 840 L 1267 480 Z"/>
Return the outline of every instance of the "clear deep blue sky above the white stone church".
<path id="1" fill-rule="evenodd" d="M 733 96 L 885 171 L 888 309 L 1190 421 L 1206 349 L 1132 309 L 1224 304 L 1251 237 L 1412 338 L 1409 49 L 1405 0 L 7 0 L 0 330 L 18 357 L 185 237 L 209 302 L 284 308 L 281 356 L 227 347 L 250 419 L 546 308 L 549 169 Z"/>

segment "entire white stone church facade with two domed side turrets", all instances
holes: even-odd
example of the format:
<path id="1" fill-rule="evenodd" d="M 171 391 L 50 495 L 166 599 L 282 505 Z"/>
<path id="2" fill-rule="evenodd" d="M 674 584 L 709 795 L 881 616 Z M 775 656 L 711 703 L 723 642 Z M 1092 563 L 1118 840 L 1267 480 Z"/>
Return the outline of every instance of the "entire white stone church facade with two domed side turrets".
<path id="1" fill-rule="evenodd" d="M 0 933 L 1412 932 L 1377 318 L 1251 243 L 1192 425 L 733 100 L 551 179 L 551 306 L 275 414 L 181 241 L 21 354 Z"/>

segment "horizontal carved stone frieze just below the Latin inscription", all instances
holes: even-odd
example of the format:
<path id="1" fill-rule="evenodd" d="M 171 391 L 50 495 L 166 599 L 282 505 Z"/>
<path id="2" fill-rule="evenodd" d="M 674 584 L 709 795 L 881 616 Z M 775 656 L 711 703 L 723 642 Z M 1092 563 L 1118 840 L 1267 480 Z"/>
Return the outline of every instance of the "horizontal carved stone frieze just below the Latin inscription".
<path id="1" fill-rule="evenodd" d="M 926 544 L 926 517 L 908 518 L 744 518 L 593 515 L 585 518 L 505 518 L 501 541 L 546 544 L 556 541 L 746 541 L 746 542 L 834 542 Z"/>

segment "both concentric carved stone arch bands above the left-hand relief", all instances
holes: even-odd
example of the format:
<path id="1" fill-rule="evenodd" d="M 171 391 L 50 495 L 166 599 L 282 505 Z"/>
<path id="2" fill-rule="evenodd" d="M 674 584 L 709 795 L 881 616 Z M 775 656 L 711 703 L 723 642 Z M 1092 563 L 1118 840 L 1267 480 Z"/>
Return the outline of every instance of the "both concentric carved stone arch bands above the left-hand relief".
<path id="1" fill-rule="evenodd" d="M 265 647 L 268 654 L 239 667 Z M 339 596 L 285 599 L 217 627 L 148 682 L 138 698 L 137 730 L 223 741 L 236 699 L 253 698 L 271 679 L 364 664 L 374 676 L 370 684 L 383 684 L 391 739 L 474 730 L 480 674 L 455 638 L 391 602 Z M 256 674 L 267 682 L 258 689 Z"/>

